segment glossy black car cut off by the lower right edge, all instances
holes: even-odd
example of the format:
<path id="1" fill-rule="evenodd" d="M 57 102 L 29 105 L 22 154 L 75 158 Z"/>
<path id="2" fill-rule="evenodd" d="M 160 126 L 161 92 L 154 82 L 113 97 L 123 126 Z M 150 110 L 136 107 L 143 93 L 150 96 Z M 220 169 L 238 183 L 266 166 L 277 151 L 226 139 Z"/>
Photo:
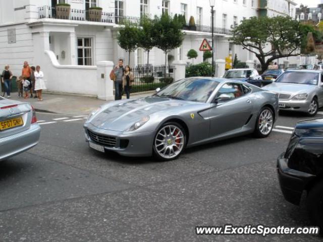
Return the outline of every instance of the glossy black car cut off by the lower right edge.
<path id="1" fill-rule="evenodd" d="M 306 206 L 313 225 L 323 232 L 323 118 L 298 122 L 286 152 L 278 157 L 279 183 L 285 199 Z"/>

